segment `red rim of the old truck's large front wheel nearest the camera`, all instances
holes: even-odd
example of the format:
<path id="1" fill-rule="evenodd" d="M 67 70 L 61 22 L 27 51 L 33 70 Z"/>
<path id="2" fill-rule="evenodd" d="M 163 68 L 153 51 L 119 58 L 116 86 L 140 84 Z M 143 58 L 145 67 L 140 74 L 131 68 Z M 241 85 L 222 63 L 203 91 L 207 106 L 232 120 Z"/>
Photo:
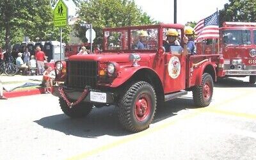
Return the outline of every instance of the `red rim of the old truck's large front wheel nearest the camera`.
<path id="1" fill-rule="evenodd" d="M 138 121 L 145 120 L 151 111 L 151 101 L 148 95 L 142 94 L 135 102 L 135 116 Z"/>

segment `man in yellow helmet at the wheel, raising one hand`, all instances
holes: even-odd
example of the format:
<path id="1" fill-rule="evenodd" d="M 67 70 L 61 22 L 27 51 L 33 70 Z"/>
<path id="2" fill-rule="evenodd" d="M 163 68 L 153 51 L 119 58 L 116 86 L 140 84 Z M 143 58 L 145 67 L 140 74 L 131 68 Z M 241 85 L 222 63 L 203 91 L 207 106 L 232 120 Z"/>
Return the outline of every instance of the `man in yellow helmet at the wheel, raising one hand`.
<path id="1" fill-rule="evenodd" d="M 179 33 L 177 32 L 176 29 L 168 29 L 166 31 L 166 36 L 167 36 L 166 42 L 163 44 L 164 49 L 165 49 L 166 52 L 170 52 L 170 47 L 171 46 L 175 46 L 175 45 L 180 46 L 180 43 L 177 40 L 177 38 L 179 37 Z M 184 48 L 186 48 L 187 43 L 188 43 L 188 38 L 186 36 L 184 36 L 183 42 L 184 42 Z M 188 51 L 184 50 L 182 52 L 182 54 L 187 55 Z"/>

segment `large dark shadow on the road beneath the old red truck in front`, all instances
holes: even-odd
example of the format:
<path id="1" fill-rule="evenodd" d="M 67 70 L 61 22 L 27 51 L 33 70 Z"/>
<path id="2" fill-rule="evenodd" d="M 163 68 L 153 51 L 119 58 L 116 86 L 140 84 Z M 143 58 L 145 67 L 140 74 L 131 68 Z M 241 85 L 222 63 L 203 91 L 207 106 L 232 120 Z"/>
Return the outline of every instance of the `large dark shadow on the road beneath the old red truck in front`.
<path id="1" fill-rule="evenodd" d="M 154 121 L 157 123 L 166 118 L 177 115 L 179 111 L 186 108 L 195 108 L 193 99 L 181 97 L 166 102 L 157 108 Z M 67 135 L 79 136 L 84 138 L 97 138 L 99 136 L 125 136 L 132 132 L 125 131 L 119 124 L 115 106 L 104 108 L 93 108 L 85 118 L 72 119 L 65 114 L 53 115 L 35 121 L 47 129 L 63 132 Z"/>

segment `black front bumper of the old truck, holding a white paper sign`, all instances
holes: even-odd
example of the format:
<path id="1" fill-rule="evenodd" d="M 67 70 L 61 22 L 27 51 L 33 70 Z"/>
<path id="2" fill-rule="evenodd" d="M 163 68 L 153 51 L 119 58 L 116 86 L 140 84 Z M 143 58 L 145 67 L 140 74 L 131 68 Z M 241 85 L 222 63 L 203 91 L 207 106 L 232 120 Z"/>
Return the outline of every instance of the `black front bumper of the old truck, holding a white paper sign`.
<path id="1" fill-rule="evenodd" d="M 52 86 L 52 95 L 54 95 L 56 97 L 62 97 L 61 94 L 60 94 L 60 91 L 59 91 L 60 87 L 63 88 L 63 90 L 65 92 L 65 95 L 67 96 L 68 100 L 77 100 L 77 99 L 79 99 L 79 97 L 81 97 L 81 95 L 84 92 L 84 90 L 77 90 L 77 89 L 74 89 L 74 88 L 67 88 L 65 86 Z M 99 95 L 105 95 L 106 94 L 106 99 L 104 98 L 104 99 L 100 99 L 100 100 L 95 100 L 95 96 L 97 96 L 97 94 L 95 95 L 95 93 L 98 93 Z M 114 94 L 113 93 L 102 92 L 100 90 L 88 89 L 88 94 L 82 100 L 82 102 L 90 102 L 92 104 L 114 104 L 115 99 L 114 99 Z"/>

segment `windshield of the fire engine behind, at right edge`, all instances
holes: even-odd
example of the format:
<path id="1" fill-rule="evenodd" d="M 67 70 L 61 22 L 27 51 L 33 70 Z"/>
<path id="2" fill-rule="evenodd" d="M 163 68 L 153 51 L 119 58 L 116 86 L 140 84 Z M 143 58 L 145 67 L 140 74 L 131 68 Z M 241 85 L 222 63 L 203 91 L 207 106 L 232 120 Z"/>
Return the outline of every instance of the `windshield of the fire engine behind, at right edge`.
<path id="1" fill-rule="evenodd" d="M 226 45 L 251 45 L 249 29 L 233 29 L 222 32 L 223 43 Z"/>

